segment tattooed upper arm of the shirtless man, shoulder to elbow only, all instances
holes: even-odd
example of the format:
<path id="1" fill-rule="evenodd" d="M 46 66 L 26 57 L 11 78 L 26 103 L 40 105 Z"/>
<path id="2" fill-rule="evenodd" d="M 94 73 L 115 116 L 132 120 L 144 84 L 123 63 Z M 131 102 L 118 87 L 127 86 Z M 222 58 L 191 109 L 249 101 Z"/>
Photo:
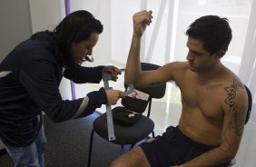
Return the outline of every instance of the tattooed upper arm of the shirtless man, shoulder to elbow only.
<path id="1" fill-rule="evenodd" d="M 237 152 L 241 141 L 248 106 L 244 103 L 244 98 L 246 102 L 247 98 L 241 95 L 241 93 L 246 92 L 241 82 L 233 80 L 230 87 L 225 87 L 225 91 L 227 92 L 227 97 L 224 101 L 226 119 L 223 125 L 222 139 L 226 147 L 222 148 L 222 151 L 233 155 Z"/>

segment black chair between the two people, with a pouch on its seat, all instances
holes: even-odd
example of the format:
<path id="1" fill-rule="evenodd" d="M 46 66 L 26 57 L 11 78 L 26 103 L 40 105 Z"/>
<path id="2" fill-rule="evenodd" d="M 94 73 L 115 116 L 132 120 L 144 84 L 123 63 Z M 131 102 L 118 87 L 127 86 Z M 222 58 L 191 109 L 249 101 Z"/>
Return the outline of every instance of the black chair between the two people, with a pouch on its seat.
<path id="1" fill-rule="evenodd" d="M 143 71 L 155 70 L 160 67 L 159 65 L 146 64 L 146 63 L 142 63 L 141 65 L 142 65 Z M 122 99 L 122 104 L 128 110 L 136 110 L 137 108 L 140 108 L 141 110 L 136 111 L 136 113 L 138 112 L 143 113 L 148 104 L 147 116 L 141 115 L 140 119 L 136 123 L 130 126 L 125 126 L 125 125 L 121 125 L 120 123 L 113 122 L 115 140 L 110 141 L 110 142 L 122 145 L 122 148 L 123 148 L 123 145 L 131 144 L 130 150 L 133 149 L 133 146 L 137 142 L 141 142 L 143 141 L 143 139 L 147 138 L 150 133 L 152 133 L 154 137 L 154 133 L 153 133 L 154 123 L 153 123 L 153 120 L 149 118 L 151 113 L 152 99 L 153 98 L 160 99 L 164 96 L 166 83 L 145 87 L 145 88 L 135 87 L 135 89 L 143 93 L 149 94 L 149 99 L 146 102 L 146 104 L 142 102 L 138 102 L 136 99 L 127 98 L 127 97 Z M 122 110 L 123 107 L 115 107 L 113 111 L 114 110 L 116 111 L 119 109 Z M 108 140 L 106 113 L 103 113 L 94 121 L 93 130 L 90 138 L 90 148 L 89 148 L 89 157 L 88 157 L 87 167 L 90 167 L 90 164 L 91 164 L 94 133 L 97 133 L 103 139 Z"/>

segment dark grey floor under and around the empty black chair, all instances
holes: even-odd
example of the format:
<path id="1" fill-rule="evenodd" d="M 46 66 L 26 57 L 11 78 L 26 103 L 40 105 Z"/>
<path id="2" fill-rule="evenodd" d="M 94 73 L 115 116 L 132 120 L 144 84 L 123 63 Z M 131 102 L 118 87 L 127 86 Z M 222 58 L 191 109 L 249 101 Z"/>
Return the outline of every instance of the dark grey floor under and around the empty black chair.
<path id="1" fill-rule="evenodd" d="M 46 167 L 86 167 L 88 160 L 88 148 L 90 133 L 94 119 L 98 116 L 94 113 L 86 118 L 53 123 L 48 117 L 44 118 L 45 135 L 48 149 L 44 155 Z M 94 147 L 92 167 L 106 167 L 127 152 L 129 146 L 121 149 L 120 145 L 103 140 L 94 134 Z M 0 166 L 13 166 L 10 157 L 5 154 L 0 157 Z"/>

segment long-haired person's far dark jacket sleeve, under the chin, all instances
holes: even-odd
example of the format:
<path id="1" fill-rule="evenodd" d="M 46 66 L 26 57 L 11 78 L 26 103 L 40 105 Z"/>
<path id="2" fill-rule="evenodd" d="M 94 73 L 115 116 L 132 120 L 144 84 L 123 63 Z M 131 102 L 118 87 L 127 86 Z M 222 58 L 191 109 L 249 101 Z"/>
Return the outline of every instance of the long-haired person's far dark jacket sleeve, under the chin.
<path id="1" fill-rule="evenodd" d="M 74 63 L 64 70 L 64 77 L 74 83 L 100 83 L 103 78 L 103 66 L 84 67 Z"/>

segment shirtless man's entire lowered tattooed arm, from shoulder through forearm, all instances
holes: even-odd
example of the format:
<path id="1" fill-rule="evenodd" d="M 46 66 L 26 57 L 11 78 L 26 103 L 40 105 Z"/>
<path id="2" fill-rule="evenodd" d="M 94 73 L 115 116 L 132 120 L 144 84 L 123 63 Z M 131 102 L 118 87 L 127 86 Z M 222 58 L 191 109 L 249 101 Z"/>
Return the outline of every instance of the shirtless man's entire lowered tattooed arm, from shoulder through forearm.
<path id="1" fill-rule="evenodd" d="M 243 84 L 233 80 L 231 86 L 224 88 L 224 120 L 222 125 L 222 143 L 219 147 L 186 162 L 181 167 L 209 167 L 230 162 L 238 151 L 244 120 L 247 112 L 247 93 Z"/>

